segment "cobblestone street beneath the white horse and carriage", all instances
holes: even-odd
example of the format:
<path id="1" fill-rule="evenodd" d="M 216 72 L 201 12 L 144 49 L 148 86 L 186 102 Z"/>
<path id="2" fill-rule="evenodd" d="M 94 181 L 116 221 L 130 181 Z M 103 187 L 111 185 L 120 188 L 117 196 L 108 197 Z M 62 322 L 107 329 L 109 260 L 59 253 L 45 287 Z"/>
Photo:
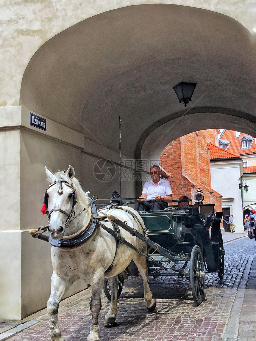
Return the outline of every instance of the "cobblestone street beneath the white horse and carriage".
<path id="1" fill-rule="evenodd" d="M 157 299 L 157 309 L 154 313 L 148 313 L 140 279 L 130 279 L 125 283 L 118 300 L 117 327 L 104 328 L 103 318 L 108 311 L 109 301 L 103 293 L 99 318 L 100 340 L 237 340 L 237 337 L 225 337 L 225 329 L 234 300 L 245 291 L 256 254 L 255 240 L 247 237 L 233 240 L 225 243 L 224 249 L 224 279 L 219 280 L 215 273 L 207 274 L 205 299 L 200 306 L 194 303 L 190 283 L 186 278 L 150 277 L 150 287 Z M 66 341 L 86 339 L 91 323 L 89 300 L 90 288 L 61 302 L 59 324 Z M 242 301 L 239 302 L 240 307 L 237 305 L 236 309 L 240 313 Z M 46 311 L 31 317 L 39 322 L 11 337 L 10 341 L 51 340 Z M 241 338 L 240 340 L 243 341 Z"/>

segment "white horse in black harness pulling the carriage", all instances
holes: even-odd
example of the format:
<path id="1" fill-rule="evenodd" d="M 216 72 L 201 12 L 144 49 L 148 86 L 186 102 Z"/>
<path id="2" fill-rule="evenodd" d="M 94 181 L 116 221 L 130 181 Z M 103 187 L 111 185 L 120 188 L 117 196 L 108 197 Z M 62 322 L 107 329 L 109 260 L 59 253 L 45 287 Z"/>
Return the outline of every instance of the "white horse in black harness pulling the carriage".
<path id="1" fill-rule="evenodd" d="M 45 169 L 49 181 L 49 187 L 45 191 L 45 203 L 49 221 L 48 233 L 53 244 L 54 242 L 63 242 L 65 244 L 67 241 L 81 237 L 90 228 L 93 217 L 91 217 L 91 206 L 88 206 L 89 198 L 82 190 L 79 181 L 74 177 L 74 168 L 71 165 L 67 171 L 56 174 L 51 173 L 47 167 Z M 74 208 L 75 213 L 72 213 Z M 133 214 L 135 213 L 143 225 L 141 217 L 135 210 L 127 206 L 125 208 Z M 129 212 L 117 208 L 102 211 L 103 213 L 98 212 L 99 216 L 112 214 L 122 221 L 127 221 L 129 226 L 136 228 L 138 232 L 143 234 L 142 226 Z M 113 230 L 111 222 L 104 222 L 104 225 Z M 99 340 L 98 315 L 101 309 L 101 292 L 104 278 L 109 279 L 111 288 L 110 308 L 105 316 L 104 326 L 115 324 L 117 316 L 117 275 L 132 260 L 137 265 L 143 281 L 146 307 L 149 311 L 155 309 L 156 300 L 152 298 L 148 286 L 146 257 L 123 243 L 116 244 L 115 238 L 101 226 L 98 224 L 93 235 L 79 246 L 52 246 L 51 258 L 54 270 L 51 279 L 51 296 L 47 302 L 47 312 L 49 315 L 50 336 L 53 341 L 65 341 L 58 326 L 59 301 L 72 283 L 80 278 L 85 283 L 90 284 L 92 290 L 90 299 L 92 324 L 87 340 Z M 120 227 L 120 234 L 140 252 L 144 254 L 147 252 L 146 244 L 122 227 Z M 112 269 L 111 266 L 113 266 Z M 106 272 L 107 269 L 111 269 L 111 271 Z"/>

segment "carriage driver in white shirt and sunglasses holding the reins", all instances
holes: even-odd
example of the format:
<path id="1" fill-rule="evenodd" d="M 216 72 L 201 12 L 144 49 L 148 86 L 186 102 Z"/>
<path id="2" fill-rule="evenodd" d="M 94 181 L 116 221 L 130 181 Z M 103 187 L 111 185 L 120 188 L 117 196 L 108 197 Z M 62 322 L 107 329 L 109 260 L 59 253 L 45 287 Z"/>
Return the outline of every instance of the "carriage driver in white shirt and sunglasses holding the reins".
<path id="1" fill-rule="evenodd" d="M 137 212 L 159 211 L 172 202 L 172 190 L 170 182 L 160 178 L 159 166 L 150 167 L 151 180 L 144 183 L 142 194 L 135 204 Z"/>

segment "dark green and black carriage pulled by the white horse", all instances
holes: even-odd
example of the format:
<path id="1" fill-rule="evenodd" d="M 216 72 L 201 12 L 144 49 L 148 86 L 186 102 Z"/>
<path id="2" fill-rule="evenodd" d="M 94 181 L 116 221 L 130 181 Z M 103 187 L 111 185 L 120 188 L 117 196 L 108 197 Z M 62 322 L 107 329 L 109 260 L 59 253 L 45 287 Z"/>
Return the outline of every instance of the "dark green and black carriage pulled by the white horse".
<path id="1" fill-rule="evenodd" d="M 198 207 L 189 205 L 188 201 L 183 208 L 175 205 L 163 211 L 140 212 L 148 232 L 146 238 L 139 233 L 134 234 L 148 245 L 148 275 L 154 278 L 186 277 L 190 281 L 194 301 L 200 305 L 204 298 L 206 273 L 217 272 L 220 279 L 224 276 L 225 251 L 220 231 L 222 212 L 214 214 L 213 204 L 202 205 L 203 196 L 200 190 L 197 192 L 195 199 Z M 182 201 L 173 202 L 179 204 Z M 124 224 L 119 223 L 120 226 Z M 127 229 L 127 225 L 122 227 Z M 188 262 L 190 265 L 186 270 Z M 170 263 L 173 263 L 171 268 Z M 135 264 L 130 264 L 126 274 L 138 275 Z M 120 274 L 118 296 L 122 292 L 123 281 Z M 104 292 L 110 299 L 107 279 Z"/>

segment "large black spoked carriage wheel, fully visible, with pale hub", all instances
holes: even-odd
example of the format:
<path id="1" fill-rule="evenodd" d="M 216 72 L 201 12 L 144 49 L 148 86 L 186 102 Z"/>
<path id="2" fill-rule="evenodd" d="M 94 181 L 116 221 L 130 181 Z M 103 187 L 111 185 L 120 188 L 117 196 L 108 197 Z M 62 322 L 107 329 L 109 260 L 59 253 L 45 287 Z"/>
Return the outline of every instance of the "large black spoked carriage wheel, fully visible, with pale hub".
<path id="1" fill-rule="evenodd" d="M 204 266 L 199 246 L 195 245 L 190 256 L 189 279 L 194 301 L 199 306 L 204 297 Z"/>

